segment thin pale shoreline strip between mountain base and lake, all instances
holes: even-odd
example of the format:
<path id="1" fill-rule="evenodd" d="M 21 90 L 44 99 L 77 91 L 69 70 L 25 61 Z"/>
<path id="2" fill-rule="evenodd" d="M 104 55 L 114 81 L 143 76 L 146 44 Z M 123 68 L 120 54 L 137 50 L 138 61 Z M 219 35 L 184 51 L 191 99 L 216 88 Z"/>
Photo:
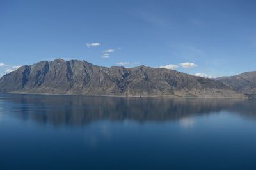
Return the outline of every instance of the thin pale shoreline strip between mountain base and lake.
<path id="1" fill-rule="evenodd" d="M 237 98 L 237 97 L 179 97 L 179 96 L 136 96 L 136 95 L 79 95 L 79 94 L 68 94 L 68 93 L 26 93 L 26 92 L 8 92 L 3 94 L 13 95 L 56 95 L 56 96 L 84 96 L 84 97 L 122 97 L 122 98 L 216 98 L 216 99 L 255 99 L 250 97 Z"/>

